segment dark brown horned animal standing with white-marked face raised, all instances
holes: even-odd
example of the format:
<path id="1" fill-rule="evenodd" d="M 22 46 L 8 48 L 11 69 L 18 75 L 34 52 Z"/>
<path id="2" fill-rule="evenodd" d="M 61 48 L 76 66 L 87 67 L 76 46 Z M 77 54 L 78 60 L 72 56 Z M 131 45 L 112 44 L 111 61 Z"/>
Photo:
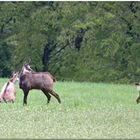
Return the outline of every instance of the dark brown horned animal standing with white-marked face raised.
<path id="1" fill-rule="evenodd" d="M 53 95 L 59 103 L 60 97 L 53 91 L 55 78 L 49 72 L 34 72 L 29 64 L 24 64 L 19 75 L 19 87 L 23 90 L 23 105 L 27 105 L 27 96 L 30 90 L 39 89 L 46 95 L 48 103 Z"/>

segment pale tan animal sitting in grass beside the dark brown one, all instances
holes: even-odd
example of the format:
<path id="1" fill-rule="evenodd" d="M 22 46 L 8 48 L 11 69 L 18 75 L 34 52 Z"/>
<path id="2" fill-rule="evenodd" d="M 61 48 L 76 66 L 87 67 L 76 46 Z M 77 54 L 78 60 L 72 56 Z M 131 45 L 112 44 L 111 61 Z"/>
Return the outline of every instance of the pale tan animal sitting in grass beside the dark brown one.
<path id="1" fill-rule="evenodd" d="M 4 84 L 1 94 L 0 102 L 15 102 L 16 99 L 16 89 L 15 83 L 18 80 L 18 73 L 13 74 L 13 77 Z"/>

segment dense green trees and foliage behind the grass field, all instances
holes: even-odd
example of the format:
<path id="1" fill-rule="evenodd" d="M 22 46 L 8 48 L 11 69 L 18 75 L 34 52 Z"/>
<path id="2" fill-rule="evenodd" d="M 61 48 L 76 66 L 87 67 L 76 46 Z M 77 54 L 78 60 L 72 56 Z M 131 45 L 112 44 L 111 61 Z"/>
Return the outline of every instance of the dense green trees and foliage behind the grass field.
<path id="1" fill-rule="evenodd" d="M 0 76 L 31 59 L 58 80 L 140 79 L 140 2 L 0 2 Z"/>

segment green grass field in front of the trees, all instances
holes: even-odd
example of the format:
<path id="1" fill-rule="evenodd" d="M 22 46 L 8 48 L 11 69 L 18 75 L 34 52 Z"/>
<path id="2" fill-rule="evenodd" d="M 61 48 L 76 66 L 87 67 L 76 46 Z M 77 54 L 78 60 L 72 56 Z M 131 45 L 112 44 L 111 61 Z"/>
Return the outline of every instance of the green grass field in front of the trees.
<path id="1" fill-rule="evenodd" d="M 7 79 L 0 79 L 0 88 Z M 56 82 L 62 104 L 32 90 L 23 107 L 0 104 L 0 138 L 140 138 L 140 104 L 134 85 Z"/>

